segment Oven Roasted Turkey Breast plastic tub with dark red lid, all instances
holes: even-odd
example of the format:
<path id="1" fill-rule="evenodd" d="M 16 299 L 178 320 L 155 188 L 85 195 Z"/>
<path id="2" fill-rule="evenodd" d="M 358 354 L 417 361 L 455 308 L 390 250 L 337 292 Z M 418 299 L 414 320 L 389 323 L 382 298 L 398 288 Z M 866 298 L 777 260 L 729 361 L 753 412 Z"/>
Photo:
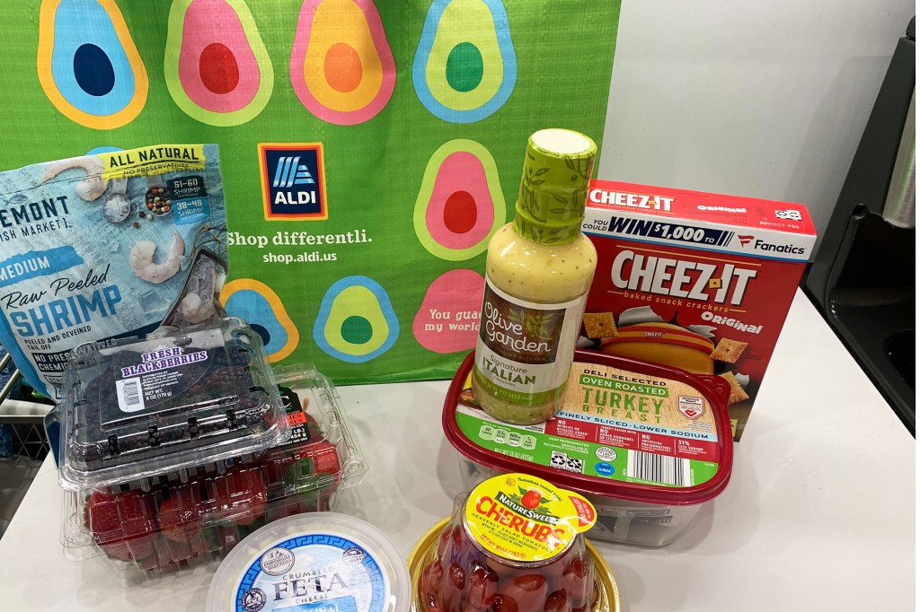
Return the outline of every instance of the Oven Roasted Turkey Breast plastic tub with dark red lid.
<path id="1" fill-rule="evenodd" d="M 561 409 L 517 426 L 479 408 L 457 371 L 444 402 L 444 434 L 460 453 L 466 487 L 512 471 L 591 500 L 589 537 L 665 546 L 729 482 L 730 386 L 719 376 L 576 350 Z"/>

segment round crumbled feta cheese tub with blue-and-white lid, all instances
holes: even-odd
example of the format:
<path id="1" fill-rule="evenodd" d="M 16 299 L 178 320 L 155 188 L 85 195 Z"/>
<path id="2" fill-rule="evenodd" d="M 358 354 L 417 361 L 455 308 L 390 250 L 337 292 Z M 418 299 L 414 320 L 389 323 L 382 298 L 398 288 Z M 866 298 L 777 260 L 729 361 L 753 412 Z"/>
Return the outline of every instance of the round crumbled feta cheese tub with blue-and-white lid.
<path id="1" fill-rule="evenodd" d="M 406 612 L 406 561 L 354 516 L 291 516 L 244 539 L 217 568 L 205 610 Z"/>

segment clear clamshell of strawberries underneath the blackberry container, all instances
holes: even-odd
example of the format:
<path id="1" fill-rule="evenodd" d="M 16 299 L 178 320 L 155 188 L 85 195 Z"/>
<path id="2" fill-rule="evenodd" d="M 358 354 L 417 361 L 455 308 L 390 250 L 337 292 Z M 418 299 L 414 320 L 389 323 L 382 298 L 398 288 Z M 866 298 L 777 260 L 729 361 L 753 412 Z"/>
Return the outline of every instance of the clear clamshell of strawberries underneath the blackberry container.
<path id="1" fill-rule="evenodd" d="M 123 578 L 221 558 L 272 521 L 335 506 L 367 465 L 339 395 L 312 366 L 277 374 L 290 436 L 274 446 L 116 484 L 64 492 L 62 543 L 74 560 L 104 556 Z"/>

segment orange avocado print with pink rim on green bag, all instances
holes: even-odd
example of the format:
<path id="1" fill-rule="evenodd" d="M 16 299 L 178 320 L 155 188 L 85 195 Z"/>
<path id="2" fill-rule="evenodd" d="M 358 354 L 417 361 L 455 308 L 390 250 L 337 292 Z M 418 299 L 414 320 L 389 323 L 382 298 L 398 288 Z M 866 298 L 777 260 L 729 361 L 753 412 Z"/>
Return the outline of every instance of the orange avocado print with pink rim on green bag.
<path id="1" fill-rule="evenodd" d="M 291 83 L 307 110 L 338 125 L 374 118 L 397 70 L 371 0 L 305 0 L 291 51 Z"/>

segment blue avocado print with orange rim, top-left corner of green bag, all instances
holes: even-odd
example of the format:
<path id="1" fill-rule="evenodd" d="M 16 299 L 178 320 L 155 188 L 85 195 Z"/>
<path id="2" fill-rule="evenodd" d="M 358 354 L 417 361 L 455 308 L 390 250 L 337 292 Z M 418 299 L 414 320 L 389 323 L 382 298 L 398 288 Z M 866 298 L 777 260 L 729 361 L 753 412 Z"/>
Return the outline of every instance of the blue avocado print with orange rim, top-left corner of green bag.
<path id="1" fill-rule="evenodd" d="M 54 107 L 87 128 L 121 128 L 147 101 L 144 62 L 113 0 L 42 0 L 36 65 Z"/>

